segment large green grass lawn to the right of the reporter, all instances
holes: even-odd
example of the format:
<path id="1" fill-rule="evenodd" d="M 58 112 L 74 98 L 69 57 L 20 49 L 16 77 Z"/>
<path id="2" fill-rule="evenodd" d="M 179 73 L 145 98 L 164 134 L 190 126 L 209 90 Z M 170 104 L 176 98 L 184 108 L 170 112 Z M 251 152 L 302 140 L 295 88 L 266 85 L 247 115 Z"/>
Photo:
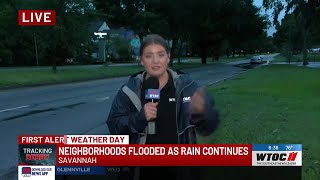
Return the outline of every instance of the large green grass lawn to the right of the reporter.
<path id="1" fill-rule="evenodd" d="M 303 179 L 320 179 L 319 77 L 319 69 L 271 65 L 209 87 L 221 124 L 200 142 L 302 144 Z"/>

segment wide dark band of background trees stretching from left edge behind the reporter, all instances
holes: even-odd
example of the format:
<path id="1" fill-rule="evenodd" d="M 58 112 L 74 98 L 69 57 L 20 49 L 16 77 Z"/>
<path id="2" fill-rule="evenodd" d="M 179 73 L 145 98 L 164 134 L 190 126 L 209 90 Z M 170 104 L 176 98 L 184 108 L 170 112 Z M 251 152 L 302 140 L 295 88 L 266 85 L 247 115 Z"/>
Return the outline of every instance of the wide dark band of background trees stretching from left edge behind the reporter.
<path id="1" fill-rule="evenodd" d="M 0 58 L 2 64 L 35 65 L 35 41 L 40 65 L 62 64 L 69 57 L 88 62 L 92 49 L 88 23 L 96 18 L 135 31 L 140 39 L 157 33 L 170 41 L 171 57 L 186 52 L 207 57 L 226 52 L 266 48 L 267 18 L 252 0 L 16 0 L 1 1 Z M 54 9 L 54 27 L 19 27 L 18 9 Z M 10 34 L 10 35 L 9 35 Z"/>

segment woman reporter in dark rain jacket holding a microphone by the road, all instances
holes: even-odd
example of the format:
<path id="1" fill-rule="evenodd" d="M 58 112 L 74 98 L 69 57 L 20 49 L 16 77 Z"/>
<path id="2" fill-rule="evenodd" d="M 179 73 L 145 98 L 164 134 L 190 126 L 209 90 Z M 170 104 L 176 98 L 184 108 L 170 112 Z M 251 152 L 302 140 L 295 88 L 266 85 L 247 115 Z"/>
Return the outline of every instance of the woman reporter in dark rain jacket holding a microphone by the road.
<path id="1" fill-rule="evenodd" d="M 170 50 L 166 41 L 159 35 L 147 35 L 140 55 L 144 71 L 132 75 L 114 98 L 107 119 L 110 133 L 128 134 L 132 144 L 193 144 L 196 134 L 211 134 L 219 122 L 213 98 L 189 75 L 168 67 Z M 145 99 L 150 77 L 159 81 L 159 102 Z M 150 132 L 151 122 L 155 133 Z M 170 167 L 143 167 L 130 174 L 135 179 L 157 175 L 176 179 L 177 171 Z M 184 179 L 191 177 L 186 172 L 178 174 L 187 176 Z"/>

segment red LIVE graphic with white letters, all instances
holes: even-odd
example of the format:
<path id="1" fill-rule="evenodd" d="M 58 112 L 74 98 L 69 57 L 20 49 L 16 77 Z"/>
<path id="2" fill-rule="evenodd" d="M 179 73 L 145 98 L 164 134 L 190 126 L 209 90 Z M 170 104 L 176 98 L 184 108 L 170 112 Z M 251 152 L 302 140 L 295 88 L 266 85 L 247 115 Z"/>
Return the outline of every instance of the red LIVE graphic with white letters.
<path id="1" fill-rule="evenodd" d="M 19 10 L 20 26 L 54 26 L 56 25 L 55 10 Z"/>

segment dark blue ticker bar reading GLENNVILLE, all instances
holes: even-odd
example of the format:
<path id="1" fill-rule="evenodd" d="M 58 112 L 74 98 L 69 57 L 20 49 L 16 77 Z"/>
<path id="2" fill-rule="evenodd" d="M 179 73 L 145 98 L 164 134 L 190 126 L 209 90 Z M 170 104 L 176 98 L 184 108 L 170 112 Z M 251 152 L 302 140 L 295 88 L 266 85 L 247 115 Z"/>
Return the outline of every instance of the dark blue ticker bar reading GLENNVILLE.
<path id="1" fill-rule="evenodd" d="M 105 175 L 106 168 L 101 166 L 57 166 L 56 175 Z"/>

